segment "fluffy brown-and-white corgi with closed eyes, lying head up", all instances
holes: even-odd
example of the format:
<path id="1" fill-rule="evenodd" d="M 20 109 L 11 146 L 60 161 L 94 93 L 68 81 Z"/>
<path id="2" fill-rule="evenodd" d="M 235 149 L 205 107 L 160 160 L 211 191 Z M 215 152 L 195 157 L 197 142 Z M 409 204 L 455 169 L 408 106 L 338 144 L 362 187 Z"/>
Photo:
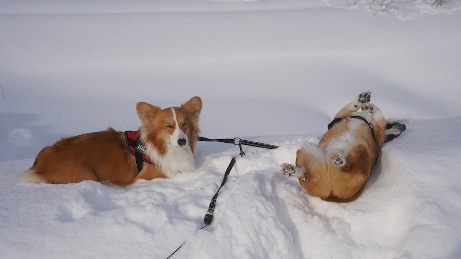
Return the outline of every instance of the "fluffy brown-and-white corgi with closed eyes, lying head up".
<path id="1" fill-rule="evenodd" d="M 192 170 L 201 109 L 202 100 L 197 96 L 181 107 L 163 110 L 149 103 L 137 103 L 142 126 L 135 134 L 138 148 L 141 146 L 144 153 L 141 167 L 137 167 L 134 153 L 127 148 L 125 134 L 109 128 L 61 139 L 45 147 L 18 180 L 54 184 L 94 180 L 124 186 L 138 179 L 171 178 Z"/>

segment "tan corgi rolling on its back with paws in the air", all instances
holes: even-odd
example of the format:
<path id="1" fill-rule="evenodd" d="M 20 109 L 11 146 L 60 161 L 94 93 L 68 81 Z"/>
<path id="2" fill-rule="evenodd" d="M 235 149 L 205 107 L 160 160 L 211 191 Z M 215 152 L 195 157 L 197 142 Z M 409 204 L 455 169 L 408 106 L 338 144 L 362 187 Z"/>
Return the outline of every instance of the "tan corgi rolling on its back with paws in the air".
<path id="1" fill-rule="evenodd" d="M 363 92 L 347 104 L 317 146 L 306 143 L 296 153 L 296 165 L 281 165 L 283 174 L 299 178 L 311 196 L 335 202 L 357 199 L 383 143 L 405 131 L 405 124 L 386 125 L 370 99 L 371 92 Z"/>

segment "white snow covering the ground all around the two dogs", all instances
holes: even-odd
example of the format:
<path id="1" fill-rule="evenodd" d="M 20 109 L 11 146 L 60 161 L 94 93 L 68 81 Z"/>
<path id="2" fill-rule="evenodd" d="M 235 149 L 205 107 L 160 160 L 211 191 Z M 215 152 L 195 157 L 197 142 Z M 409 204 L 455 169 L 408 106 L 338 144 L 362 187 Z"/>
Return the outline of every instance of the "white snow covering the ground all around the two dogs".
<path id="1" fill-rule="evenodd" d="M 461 257 L 461 1 L 0 0 L 0 258 Z M 407 131 L 362 196 L 281 163 L 361 91 Z M 135 105 L 203 100 L 197 169 L 121 188 L 19 184 L 61 137 L 136 130 Z"/>

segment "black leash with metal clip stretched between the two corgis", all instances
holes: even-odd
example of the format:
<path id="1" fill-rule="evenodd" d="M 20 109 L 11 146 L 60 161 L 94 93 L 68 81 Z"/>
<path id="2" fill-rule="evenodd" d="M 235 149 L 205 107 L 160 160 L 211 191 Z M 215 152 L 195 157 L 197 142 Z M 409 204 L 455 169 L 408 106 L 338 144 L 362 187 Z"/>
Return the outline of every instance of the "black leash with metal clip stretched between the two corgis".
<path id="1" fill-rule="evenodd" d="M 270 144 L 255 142 L 255 141 L 249 141 L 249 140 L 244 140 L 244 139 L 240 139 L 240 138 L 234 138 L 234 139 L 209 139 L 209 138 L 204 138 L 204 137 L 198 137 L 198 140 L 199 141 L 207 141 L 207 142 L 214 141 L 214 142 L 221 142 L 221 143 L 228 143 L 228 144 L 238 145 L 239 148 L 240 148 L 239 156 L 241 156 L 241 157 L 245 156 L 245 152 L 243 152 L 242 145 L 256 146 L 256 147 L 262 147 L 262 148 L 267 148 L 267 149 L 275 149 L 275 148 L 278 147 L 278 146 L 275 146 L 275 145 L 270 145 Z M 213 196 L 211 202 L 209 203 L 208 210 L 207 210 L 207 212 L 205 214 L 205 218 L 203 220 L 205 222 L 205 226 L 201 227 L 200 229 L 205 228 L 206 226 L 208 226 L 209 224 L 211 224 L 213 222 L 213 213 L 215 211 L 216 199 L 218 199 L 219 190 L 221 190 L 222 186 L 224 186 L 224 184 L 226 183 L 227 176 L 231 173 L 231 170 L 234 167 L 235 161 L 236 161 L 236 157 L 233 157 L 231 159 L 231 162 L 227 166 L 227 169 L 224 172 L 224 177 L 222 179 L 221 186 L 219 186 L 218 191 L 216 191 L 215 196 Z M 170 254 L 170 256 L 166 257 L 166 259 L 169 259 L 173 254 L 175 254 L 184 244 L 185 244 L 185 242 L 182 243 L 182 245 L 180 245 L 172 254 Z"/>

